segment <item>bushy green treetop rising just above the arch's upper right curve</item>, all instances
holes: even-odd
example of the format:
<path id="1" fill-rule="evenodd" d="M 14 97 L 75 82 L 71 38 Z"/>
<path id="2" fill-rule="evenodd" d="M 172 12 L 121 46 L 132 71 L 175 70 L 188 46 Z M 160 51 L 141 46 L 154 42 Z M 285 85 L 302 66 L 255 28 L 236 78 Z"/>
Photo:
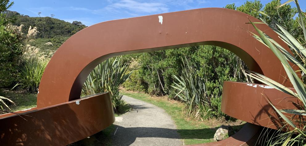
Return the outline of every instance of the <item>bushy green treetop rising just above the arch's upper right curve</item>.
<path id="1" fill-rule="evenodd" d="M 263 8 L 263 4 L 260 3 L 260 1 L 255 0 L 254 2 L 252 1 L 246 1 L 243 5 L 237 7 L 237 11 L 241 11 L 243 13 L 249 14 L 257 19 L 260 18 L 260 15 L 258 11 L 256 10 L 261 10 Z M 253 10 L 255 9 L 255 10 Z"/>

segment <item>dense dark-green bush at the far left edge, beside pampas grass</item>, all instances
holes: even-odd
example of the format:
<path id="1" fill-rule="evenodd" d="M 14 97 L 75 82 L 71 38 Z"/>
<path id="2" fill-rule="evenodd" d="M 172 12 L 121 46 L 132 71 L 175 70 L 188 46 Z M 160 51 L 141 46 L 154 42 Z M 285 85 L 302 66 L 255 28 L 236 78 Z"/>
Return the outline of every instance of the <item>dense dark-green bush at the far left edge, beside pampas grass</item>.
<path id="1" fill-rule="evenodd" d="M 19 57 L 22 54 L 22 33 L 19 28 L 9 25 L 4 11 L 9 1 L 0 1 L 0 88 L 10 87 L 17 76 Z"/>

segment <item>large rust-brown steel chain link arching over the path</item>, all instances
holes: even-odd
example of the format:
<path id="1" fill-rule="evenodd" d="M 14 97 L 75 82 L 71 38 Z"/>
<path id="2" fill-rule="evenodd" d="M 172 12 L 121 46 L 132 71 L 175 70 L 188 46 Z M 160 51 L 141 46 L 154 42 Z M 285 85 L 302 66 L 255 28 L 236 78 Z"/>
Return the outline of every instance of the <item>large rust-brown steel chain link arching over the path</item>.
<path id="1" fill-rule="evenodd" d="M 279 60 L 246 31 L 253 31 L 242 12 L 224 8 L 204 8 L 106 21 L 70 37 L 56 51 L 43 74 L 37 107 L 79 99 L 86 77 L 103 60 L 132 54 L 192 45 L 217 45 L 237 54 L 250 70 L 284 82 L 285 72 Z M 244 30 L 244 29 L 246 30 Z M 283 43 L 267 25 L 258 26 Z M 273 67 L 267 64 L 273 64 Z"/>

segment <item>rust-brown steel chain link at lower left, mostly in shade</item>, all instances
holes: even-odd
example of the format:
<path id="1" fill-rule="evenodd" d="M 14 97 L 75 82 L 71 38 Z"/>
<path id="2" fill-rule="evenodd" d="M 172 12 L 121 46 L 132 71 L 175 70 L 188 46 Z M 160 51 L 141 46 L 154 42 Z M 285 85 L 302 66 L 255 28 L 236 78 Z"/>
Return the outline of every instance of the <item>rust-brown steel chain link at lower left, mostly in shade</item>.
<path id="1" fill-rule="evenodd" d="M 75 101 L 0 118 L 0 145 L 67 145 L 110 126 L 114 111 L 110 94 L 101 93 Z"/>

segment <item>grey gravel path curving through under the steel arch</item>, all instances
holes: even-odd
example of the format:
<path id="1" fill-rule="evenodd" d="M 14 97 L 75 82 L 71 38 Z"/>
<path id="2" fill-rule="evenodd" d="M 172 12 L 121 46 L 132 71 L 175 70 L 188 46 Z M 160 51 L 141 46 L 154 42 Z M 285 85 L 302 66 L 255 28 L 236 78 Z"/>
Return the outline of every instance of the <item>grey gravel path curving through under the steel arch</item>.
<path id="1" fill-rule="evenodd" d="M 171 117 L 163 109 L 131 97 L 123 96 L 132 110 L 114 122 L 113 144 L 118 146 L 182 145 Z"/>

